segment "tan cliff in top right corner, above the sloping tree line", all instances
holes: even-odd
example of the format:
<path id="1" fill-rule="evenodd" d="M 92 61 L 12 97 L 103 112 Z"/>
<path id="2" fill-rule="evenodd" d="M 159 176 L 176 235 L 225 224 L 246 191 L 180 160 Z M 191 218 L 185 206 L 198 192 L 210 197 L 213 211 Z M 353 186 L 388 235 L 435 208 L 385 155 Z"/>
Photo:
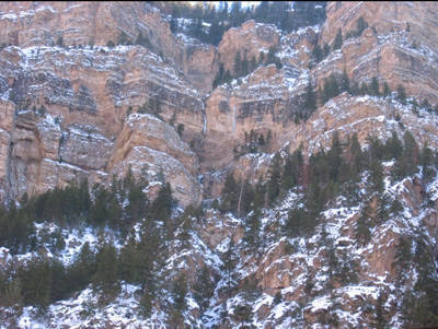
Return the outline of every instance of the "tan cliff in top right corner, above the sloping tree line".
<path id="1" fill-rule="evenodd" d="M 356 31 L 359 17 L 377 35 L 367 28 L 360 37 L 345 39 L 347 33 Z M 315 73 L 322 79 L 345 69 L 349 79 L 359 83 L 377 77 L 391 90 L 402 84 L 407 95 L 437 104 L 436 22 L 438 8 L 434 2 L 331 2 L 320 44 L 332 44 L 342 28 L 342 56 L 335 51 Z"/>

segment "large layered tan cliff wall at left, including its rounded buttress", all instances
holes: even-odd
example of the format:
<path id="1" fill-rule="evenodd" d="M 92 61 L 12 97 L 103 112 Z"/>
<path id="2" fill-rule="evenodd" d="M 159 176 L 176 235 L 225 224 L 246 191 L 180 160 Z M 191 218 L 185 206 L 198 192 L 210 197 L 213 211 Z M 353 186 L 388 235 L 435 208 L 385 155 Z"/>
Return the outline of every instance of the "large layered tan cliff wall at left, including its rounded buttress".
<path id="1" fill-rule="evenodd" d="M 48 47 L 23 52 L 9 47 L 0 58 L 4 89 L 10 87 L 9 97 L 19 109 L 13 120 L 13 103 L 1 103 L 2 199 L 24 192 L 32 196 L 71 179 L 107 183 L 108 171 L 116 166 L 114 161 L 108 166 L 112 158 L 120 161 L 118 167 L 135 158 L 139 168 L 149 163 L 157 173 L 163 168 L 183 205 L 199 201 L 197 156 L 175 129 L 183 125 L 182 138 L 188 142 L 199 138 L 203 102 L 183 75 L 160 57 L 137 46 L 111 52 Z M 137 150 L 127 158 L 126 154 L 117 155 L 122 152 L 117 148 L 124 146 L 117 137 L 124 137 L 127 108 L 136 111 L 151 99 L 159 99 L 163 120 L 174 127 L 160 121 L 165 129 L 142 131 L 138 125 L 134 133 L 142 141 L 138 145 L 151 151 L 143 154 Z"/>

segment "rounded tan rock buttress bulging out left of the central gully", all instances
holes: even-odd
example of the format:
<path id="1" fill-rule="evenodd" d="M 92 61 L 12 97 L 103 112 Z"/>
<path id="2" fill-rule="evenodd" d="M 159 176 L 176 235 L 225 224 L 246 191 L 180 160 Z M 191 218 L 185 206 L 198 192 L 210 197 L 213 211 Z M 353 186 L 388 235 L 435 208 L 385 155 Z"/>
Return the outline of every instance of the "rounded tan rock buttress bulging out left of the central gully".
<path id="1" fill-rule="evenodd" d="M 162 173 L 183 205 L 200 201 L 197 157 L 168 124 L 150 115 L 131 115 L 114 149 L 108 163 L 113 175 L 122 176 L 130 166 L 135 176 L 152 183 Z"/>

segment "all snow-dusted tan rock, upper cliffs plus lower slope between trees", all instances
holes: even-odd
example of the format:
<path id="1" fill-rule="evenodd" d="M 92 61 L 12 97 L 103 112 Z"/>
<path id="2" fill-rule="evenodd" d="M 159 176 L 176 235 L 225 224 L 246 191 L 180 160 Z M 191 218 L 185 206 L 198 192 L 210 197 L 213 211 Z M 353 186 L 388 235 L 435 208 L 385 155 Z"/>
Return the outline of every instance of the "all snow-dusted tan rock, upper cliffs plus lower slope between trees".
<path id="1" fill-rule="evenodd" d="M 0 200 L 20 200 L 25 193 L 37 195 L 82 178 L 108 185 L 131 168 L 136 177 L 149 181 L 150 198 L 165 178 L 184 208 L 220 196 L 227 173 L 254 185 L 266 181 L 275 152 L 292 153 L 302 145 L 309 158 L 327 150 L 335 132 L 342 142 L 356 132 L 359 142 L 367 144 L 368 136 L 385 140 L 392 131 L 399 137 L 410 131 L 418 143 L 437 150 L 437 113 L 418 109 L 414 102 L 403 104 L 395 93 L 382 97 L 344 92 L 324 104 L 318 99 L 315 110 L 306 98 L 309 85 L 321 91 L 332 73 L 341 79 L 345 71 L 351 82 L 369 83 L 376 77 L 392 91 L 403 85 L 418 103 L 438 104 L 438 7 L 434 3 L 331 2 L 322 26 L 286 34 L 249 21 L 230 28 L 214 47 L 173 35 L 169 17 L 147 3 L 2 2 Z M 369 27 L 353 36 L 360 17 Z M 315 63 L 313 47 L 332 45 L 338 28 L 344 36 L 341 49 Z M 123 32 L 132 40 L 141 33 L 149 42 L 106 47 Z M 351 36 L 346 38 L 348 33 Z M 56 45 L 59 37 L 62 47 Z M 219 63 L 233 72 L 238 51 L 258 59 L 270 47 L 278 49 L 281 68 L 261 63 L 246 77 L 212 90 Z M 191 308 L 185 319 L 197 327 L 239 326 L 239 307 L 247 306 L 241 291 L 255 281 L 261 294 L 247 307 L 254 321 L 266 328 L 328 322 L 330 314 L 337 315 L 339 327 L 372 324 L 370 309 L 379 294 L 388 302 L 385 317 L 392 326 L 401 326 L 397 298 L 411 285 L 396 285 L 396 249 L 401 236 L 414 231 L 423 230 L 428 243 L 436 242 L 438 183 L 435 178 L 424 186 L 422 176 L 415 176 L 391 185 L 392 164 L 384 169 L 385 193 L 392 201 L 401 200 L 403 214 L 377 226 L 366 246 L 359 246 L 354 233 L 364 204 L 346 205 L 342 198 L 320 214 L 321 225 L 312 236 L 286 238 L 281 227 L 288 211 L 302 204 L 300 190 L 264 210 L 265 242 L 257 252 L 242 243 L 244 221 L 214 210 L 200 220 L 191 219 L 189 247 L 178 240 L 171 244 L 160 275 L 171 282 L 183 271 L 193 286 L 197 273 L 189 269 L 206 266 L 216 287 L 203 315 L 197 302 L 187 298 Z M 365 185 L 364 178 L 362 199 Z M 232 296 L 220 260 L 231 239 L 239 256 L 233 269 L 238 293 Z M 358 262 L 358 282 L 347 286 L 327 279 L 332 251 Z M 12 259 L 8 255 L 4 262 Z M 411 280 L 416 273 L 411 269 L 406 275 Z M 135 287 L 129 289 L 120 299 L 129 297 L 138 305 Z M 85 290 L 81 298 L 94 303 L 90 294 Z M 276 294 L 281 298 L 274 302 Z M 80 307 L 69 315 L 55 314 L 65 305 L 76 305 L 70 302 L 50 308 L 53 318 L 68 322 L 76 319 L 74 312 L 82 314 Z M 154 319 L 165 324 L 160 301 L 155 304 Z M 223 308 L 231 315 L 226 322 L 220 317 Z M 92 326 L 99 317 L 83 324 Z M 127 325 L 117 321 L 110 317 L 100 325 Z"/>

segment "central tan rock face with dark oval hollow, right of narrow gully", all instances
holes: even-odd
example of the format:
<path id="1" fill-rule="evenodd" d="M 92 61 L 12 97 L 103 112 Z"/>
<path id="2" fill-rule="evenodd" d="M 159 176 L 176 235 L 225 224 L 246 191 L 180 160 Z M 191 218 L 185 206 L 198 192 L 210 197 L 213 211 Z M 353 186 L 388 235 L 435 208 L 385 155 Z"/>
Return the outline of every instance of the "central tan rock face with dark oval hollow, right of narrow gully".
<path id="1" fill-rule="evenodd" d="M 200 152 L 201 168 L 229 165 L 251 131 L 269 141 L 263 151 L 279 149 L 295 126 L 293 113 L 302 107 L 306 71 L 260 67 L 231 89 L 218 87 L 206 102 L 207 129 Z M 237 151 L 233 151 L 233 150 Z"/>

